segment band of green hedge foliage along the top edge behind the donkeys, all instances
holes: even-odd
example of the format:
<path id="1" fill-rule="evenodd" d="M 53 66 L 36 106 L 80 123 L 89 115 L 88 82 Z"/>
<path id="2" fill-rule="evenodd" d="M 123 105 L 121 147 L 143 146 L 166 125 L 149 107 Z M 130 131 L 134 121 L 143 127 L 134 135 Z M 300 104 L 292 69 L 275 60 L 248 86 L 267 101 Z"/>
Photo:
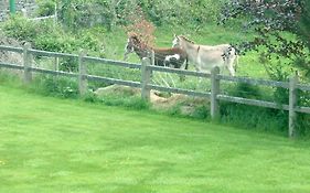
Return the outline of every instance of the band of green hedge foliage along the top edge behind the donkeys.
<path id="1" fill-rule="evenodd" d="M 52 14 L 57 4 L 58 20 L 71 29 L 103 25 L 108 30 L 127 25 L 141 8 L 147 20 L 156 25 L 184 24 L 195 26 L 216 21 L 221 6 L 227 0 L 40 0 L 39 14 Z"/>

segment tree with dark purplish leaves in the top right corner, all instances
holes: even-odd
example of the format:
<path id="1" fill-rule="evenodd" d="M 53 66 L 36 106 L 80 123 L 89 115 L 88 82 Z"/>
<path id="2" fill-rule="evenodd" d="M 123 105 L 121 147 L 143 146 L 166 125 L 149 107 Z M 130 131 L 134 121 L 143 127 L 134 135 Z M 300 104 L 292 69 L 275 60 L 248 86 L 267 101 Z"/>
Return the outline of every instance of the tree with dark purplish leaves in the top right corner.
<path id="1" fill-rule="evenodd" d="M 255 50 L 260 53 L 261 62 L 278 61 L 276 65 L 266 65 L 271 78 L 287 78 L 282 67 L 288 65 L 310 78 L 309 0 L 232 0 L 225 3 L 220 23 L 232 19 L 242 19 L 243 29 L 257 34 L 238 45 L 242 52 Z"/>

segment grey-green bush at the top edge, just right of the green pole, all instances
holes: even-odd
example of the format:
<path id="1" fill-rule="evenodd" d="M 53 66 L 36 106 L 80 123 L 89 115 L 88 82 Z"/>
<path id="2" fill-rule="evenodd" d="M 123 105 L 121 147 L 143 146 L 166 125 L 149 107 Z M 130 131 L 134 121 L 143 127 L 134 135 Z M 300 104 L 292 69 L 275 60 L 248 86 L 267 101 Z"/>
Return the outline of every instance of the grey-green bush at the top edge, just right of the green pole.
<path id="1" fill-rule="evenodd" d="M 135 1 L 65 0 L 57 1 L 60 21 L 72 29 L 104 25 L 111 30 L 124 24 L 131 14 Z"/>

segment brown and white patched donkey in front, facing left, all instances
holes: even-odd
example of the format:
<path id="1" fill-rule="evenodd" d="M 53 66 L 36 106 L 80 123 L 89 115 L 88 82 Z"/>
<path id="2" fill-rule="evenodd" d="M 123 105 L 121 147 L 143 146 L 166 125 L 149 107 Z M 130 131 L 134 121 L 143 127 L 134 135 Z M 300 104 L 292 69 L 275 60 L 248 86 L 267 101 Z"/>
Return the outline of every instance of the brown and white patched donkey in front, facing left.
<path id="1" fill-rule="evenodd" d="M 141 42 L 137 34 L 131 34 L 128 37 L 125 46 L 124 60 L 126 61 L 129 53 L 136 54 L 142 60 L 150 57 L 150 53 L 154 52 L 154 65 L 181 68 L 183 65 L 188 69 L 188 54 L 180 47 L 158 49 L 152 47 Z"/>

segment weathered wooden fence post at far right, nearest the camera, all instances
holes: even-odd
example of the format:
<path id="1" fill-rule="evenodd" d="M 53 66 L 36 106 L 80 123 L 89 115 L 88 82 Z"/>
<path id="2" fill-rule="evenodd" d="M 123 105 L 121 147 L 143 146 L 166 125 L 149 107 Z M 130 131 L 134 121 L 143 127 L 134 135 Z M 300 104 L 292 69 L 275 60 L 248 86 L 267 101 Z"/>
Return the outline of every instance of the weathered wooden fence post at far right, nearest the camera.
<path id="1" fill-rule="evenodd" d="M 292 76 L 289 79 L 289 137 L 292 138 L 296 135 L 296 119 L 297 114 L 295 111 L 295 107 L 297 105 L 297 84 L 298 84 L 298 75 Z"/>

